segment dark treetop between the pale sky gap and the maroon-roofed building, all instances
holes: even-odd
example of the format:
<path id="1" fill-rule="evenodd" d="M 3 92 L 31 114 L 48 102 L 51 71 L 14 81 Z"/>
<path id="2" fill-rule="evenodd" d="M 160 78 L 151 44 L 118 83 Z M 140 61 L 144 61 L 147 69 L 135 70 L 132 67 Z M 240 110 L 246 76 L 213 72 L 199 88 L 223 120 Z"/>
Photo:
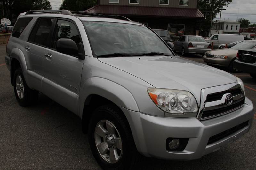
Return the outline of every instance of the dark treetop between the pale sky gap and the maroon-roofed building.
<path id="1" fill-rule="evenodd" d="M 85 11 L 97 4 L 97 0 L 64 0 L 60 10 Z"/>

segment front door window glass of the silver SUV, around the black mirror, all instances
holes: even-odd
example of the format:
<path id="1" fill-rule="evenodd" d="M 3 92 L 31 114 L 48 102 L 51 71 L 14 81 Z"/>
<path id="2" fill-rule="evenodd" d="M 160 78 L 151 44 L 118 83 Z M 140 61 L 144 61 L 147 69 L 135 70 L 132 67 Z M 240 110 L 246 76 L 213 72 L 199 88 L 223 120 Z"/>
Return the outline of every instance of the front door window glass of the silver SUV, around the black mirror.
<path id="1" fill-rule="evenodd" d="M 78 52 L 83 53 L 83 44 L 81 42 L 80 35 L 76 26 L 72 22 L 60 19 L 58 20 L 54 30 L 52 48 L 56 49 L 57 41 L 60 38 L 68 38 L 75 41 L 78 47 Z"/>

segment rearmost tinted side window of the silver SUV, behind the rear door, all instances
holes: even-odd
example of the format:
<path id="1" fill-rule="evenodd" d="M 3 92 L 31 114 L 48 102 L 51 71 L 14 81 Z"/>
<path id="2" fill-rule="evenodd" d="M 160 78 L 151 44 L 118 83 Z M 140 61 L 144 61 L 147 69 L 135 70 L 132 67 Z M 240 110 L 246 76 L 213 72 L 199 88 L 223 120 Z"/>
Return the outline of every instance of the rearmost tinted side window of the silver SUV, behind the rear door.
<path id="1" fill-rule="evenodd" d="M 26 28 L 26 26 L 32 19 L 32 17 L 19 18 L 13 28 L 12 36 L 19 38 L 20 34 L 23 32 L 23 30 Z"/>

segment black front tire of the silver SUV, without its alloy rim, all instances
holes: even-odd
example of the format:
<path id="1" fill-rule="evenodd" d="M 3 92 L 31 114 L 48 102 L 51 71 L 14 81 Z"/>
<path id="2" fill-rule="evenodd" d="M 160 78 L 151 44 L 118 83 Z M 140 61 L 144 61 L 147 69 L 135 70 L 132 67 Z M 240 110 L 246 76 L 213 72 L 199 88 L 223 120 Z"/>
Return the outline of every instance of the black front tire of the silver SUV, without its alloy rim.
<path id="1" fill-rule="evenodd" d="M 97 124 L 103 120 L 113 123 L 121 137 L 123 153 L 119 161 L 116 163 L 109 163 L 104 160 L 96 147 L 94 133 L 95 128 Z M 126 170 L 136 169 L 139 167 L 142 156 L 136 149 L 130 126 L 118 107 L 114 105 L 104 105 L 93 112 L 88 126 L 88 138 L 92 154 L 103 169 Z"/>

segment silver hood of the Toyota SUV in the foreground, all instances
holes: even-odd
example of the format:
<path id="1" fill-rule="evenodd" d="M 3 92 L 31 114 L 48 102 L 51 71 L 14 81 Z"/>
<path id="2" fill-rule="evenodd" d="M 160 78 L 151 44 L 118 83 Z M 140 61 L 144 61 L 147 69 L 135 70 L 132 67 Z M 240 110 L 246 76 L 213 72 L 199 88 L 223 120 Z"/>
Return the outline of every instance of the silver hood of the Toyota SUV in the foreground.
<path id="1" fill-rule="evenodd" d="M 197 101 L 200 101 L 201 89 L 236 82 L 232 74 L 179 56 L 98 59 L 156 88 L 187 90 L 196 97 Z"/>

